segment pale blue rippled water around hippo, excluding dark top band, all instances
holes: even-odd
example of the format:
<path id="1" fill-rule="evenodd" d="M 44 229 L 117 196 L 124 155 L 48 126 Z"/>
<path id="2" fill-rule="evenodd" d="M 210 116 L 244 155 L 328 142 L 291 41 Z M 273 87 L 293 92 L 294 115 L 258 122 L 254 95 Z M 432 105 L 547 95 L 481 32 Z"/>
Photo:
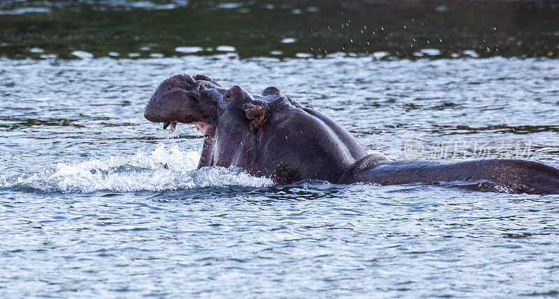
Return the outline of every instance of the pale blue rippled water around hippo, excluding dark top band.
<path id="1" fill-rule="evenodd" d="M 0 297 L 558 295 L 559 197 L 198 171 L 195 129 L 143 118 L 180 72 L 277 86 L 391 159 L 521 142 L 559 165 L 553 59 L 3 58 Z"/>

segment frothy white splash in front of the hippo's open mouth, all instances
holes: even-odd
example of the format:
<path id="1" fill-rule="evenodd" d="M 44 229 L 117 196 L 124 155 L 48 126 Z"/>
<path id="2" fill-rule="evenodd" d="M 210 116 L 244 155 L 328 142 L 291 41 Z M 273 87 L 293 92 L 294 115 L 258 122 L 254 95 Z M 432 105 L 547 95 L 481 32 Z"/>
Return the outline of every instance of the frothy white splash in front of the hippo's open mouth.
<path id="1" fill-rule="evenodd" d="M 135 155 L 93 159 L 76 164 L 58 163 L 54 170 L 15 179 L 0 178 L 4 187 L 26 187 L 42 192 L 133 192 L 180 190 L 194 187 L 272 185 L 238 169 L 204 167 L 196 170 L 200 154 L 178 146 L 159 144 L 154 151 Z M 168 164 L 168 169 L 164 167 Z"/>

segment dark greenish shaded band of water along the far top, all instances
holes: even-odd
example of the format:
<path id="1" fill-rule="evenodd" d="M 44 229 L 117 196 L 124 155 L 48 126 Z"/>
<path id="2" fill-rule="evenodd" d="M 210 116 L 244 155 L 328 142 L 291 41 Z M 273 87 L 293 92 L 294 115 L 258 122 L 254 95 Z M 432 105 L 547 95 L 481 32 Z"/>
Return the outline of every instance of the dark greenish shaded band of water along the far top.
<path id="1" fill-rule="evenodd" d="M 2 1 L 0 55 L 558 57 L 558 14 L 517 0 Z"/>

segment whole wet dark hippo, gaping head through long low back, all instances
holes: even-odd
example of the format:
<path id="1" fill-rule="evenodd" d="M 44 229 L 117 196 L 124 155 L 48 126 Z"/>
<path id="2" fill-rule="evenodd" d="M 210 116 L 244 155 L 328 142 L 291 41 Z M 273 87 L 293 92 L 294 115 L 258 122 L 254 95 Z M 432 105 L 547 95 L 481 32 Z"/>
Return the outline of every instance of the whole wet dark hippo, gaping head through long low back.
<path id="1" fill-rule="evenodd" d="M 224 89 L 207 76 L 175 75 L 162 82 L 144 112 L 149 121 L 194 123 L 204 134 L 198 168 L 239 167 L 286 184 L 482 182 L 515 192 L 558 194 L 559 169 L 525 160 L 389 161 L 367 155 L 349 132 L 310 107 L 268 87 L 251 94 Z"/>

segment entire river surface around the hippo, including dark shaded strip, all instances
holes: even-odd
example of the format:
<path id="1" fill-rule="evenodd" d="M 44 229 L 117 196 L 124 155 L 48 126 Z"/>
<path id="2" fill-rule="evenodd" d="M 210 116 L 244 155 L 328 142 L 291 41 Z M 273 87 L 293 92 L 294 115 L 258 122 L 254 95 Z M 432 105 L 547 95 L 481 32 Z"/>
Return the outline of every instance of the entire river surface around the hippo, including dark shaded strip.
<path id="1" fill-rule="evenodd" d="M 556 6 L 207 2 L 1 3 L 1 298 L 559 295 L 557 195 L 276 186 L 196 170 L 194 127 L 143 118 L 200 73 L 277 86 L 392 160 L 559 167 Z"/>

